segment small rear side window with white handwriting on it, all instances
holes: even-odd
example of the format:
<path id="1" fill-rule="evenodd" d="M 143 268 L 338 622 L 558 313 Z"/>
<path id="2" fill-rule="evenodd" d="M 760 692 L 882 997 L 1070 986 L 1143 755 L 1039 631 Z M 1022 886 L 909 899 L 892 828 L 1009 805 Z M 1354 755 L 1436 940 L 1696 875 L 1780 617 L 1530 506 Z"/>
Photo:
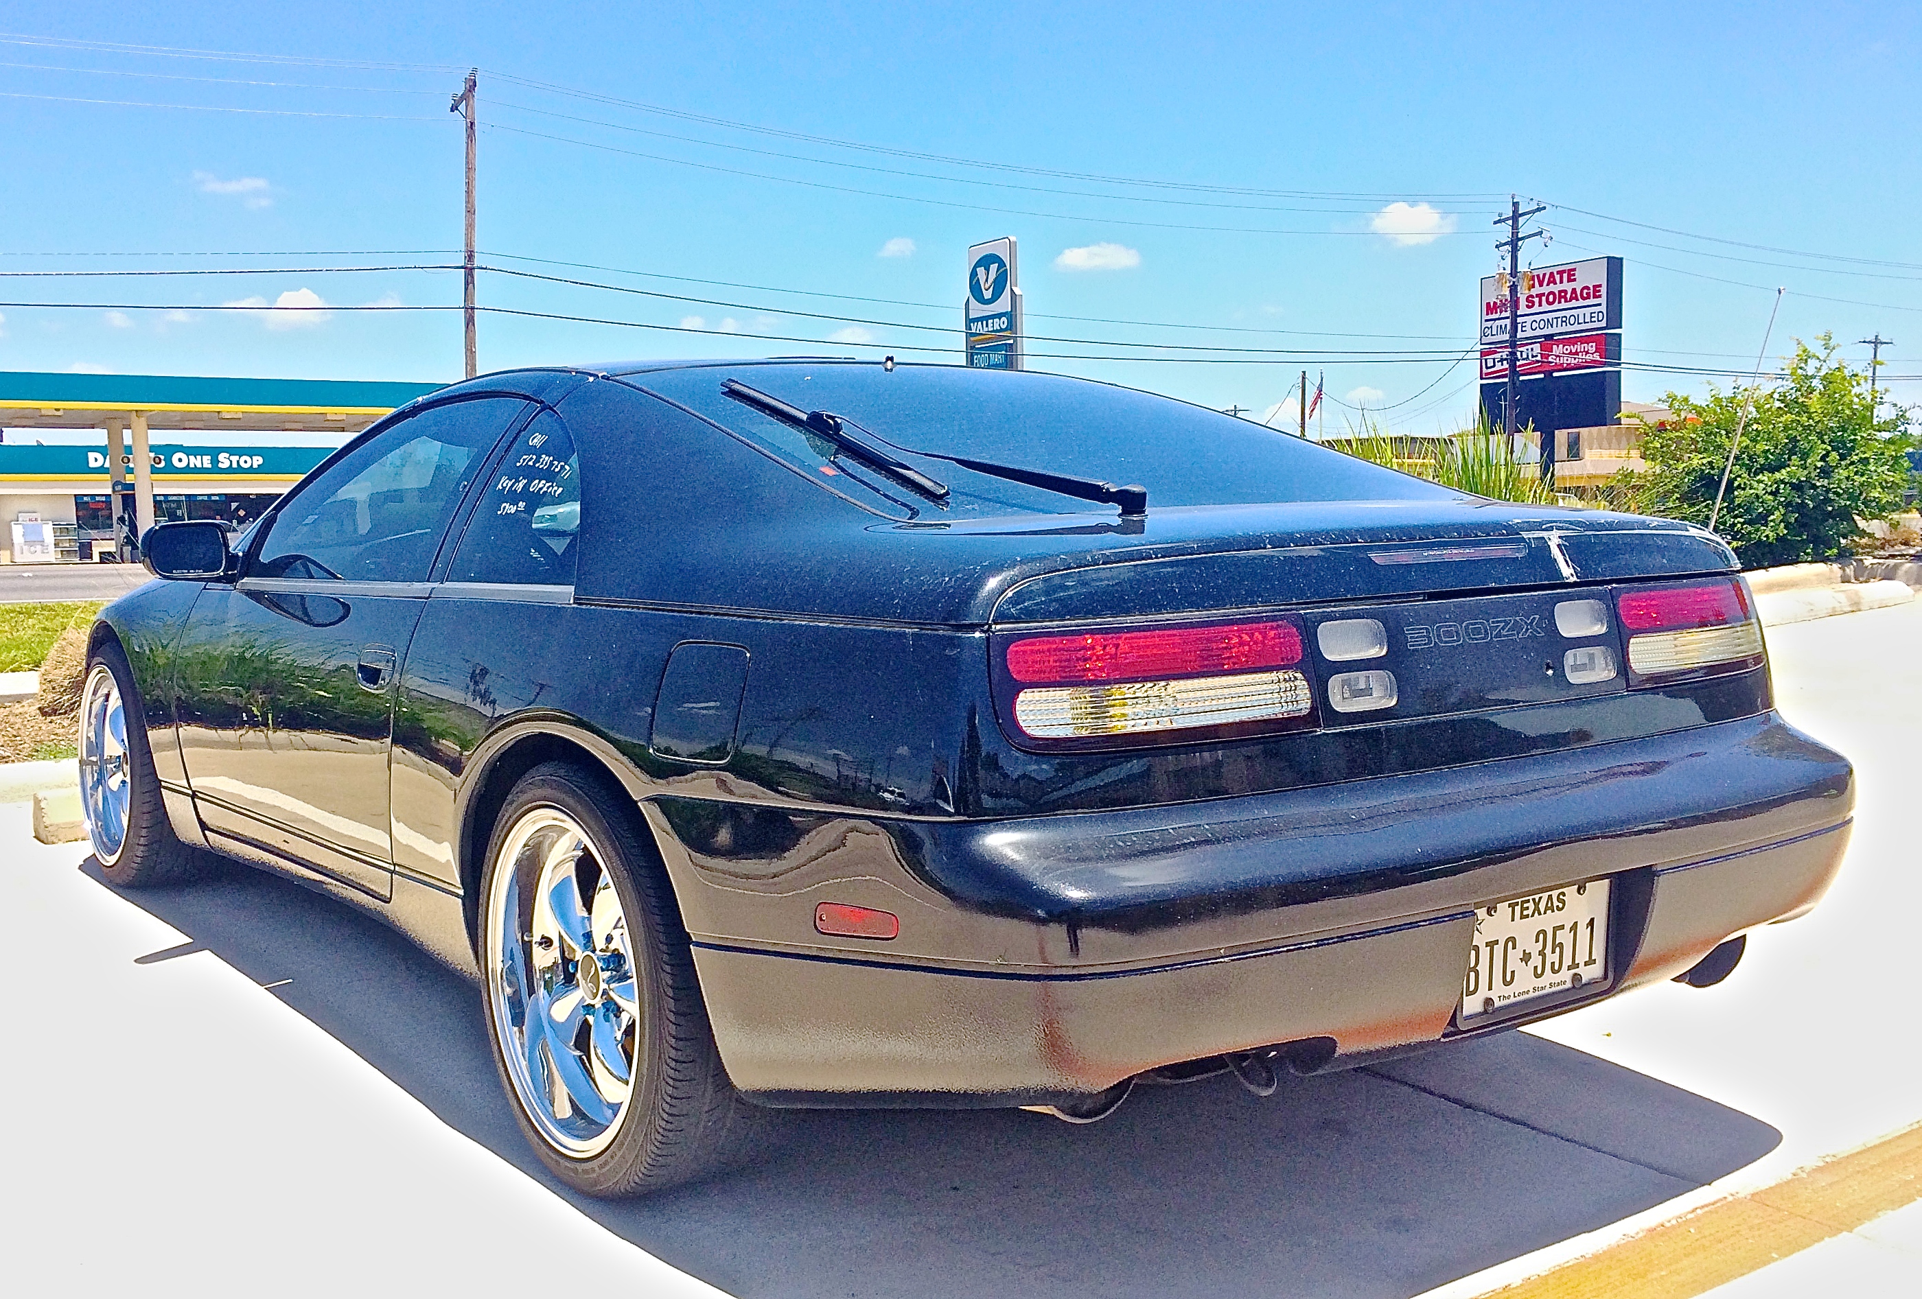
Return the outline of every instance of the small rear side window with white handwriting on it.
<path id="1" fill-rule="evenodd" d="M 573 586 L 579 534 L 580 457 L 567 425 L 542 411 L 482 484 L 446 580 Z"/>

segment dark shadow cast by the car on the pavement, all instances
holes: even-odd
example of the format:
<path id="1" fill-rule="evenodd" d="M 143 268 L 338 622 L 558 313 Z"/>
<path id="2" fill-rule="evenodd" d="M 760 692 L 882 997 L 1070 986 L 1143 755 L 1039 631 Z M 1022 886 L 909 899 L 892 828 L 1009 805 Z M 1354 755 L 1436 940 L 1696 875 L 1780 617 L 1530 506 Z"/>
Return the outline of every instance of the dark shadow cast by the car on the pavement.
<path id="1" fill-rule="evenodd" d="M 98 867 L 83 870 L 102 888 Z M 1726 1176 L 1768 1124 L 1503 1034 L 1267 1099 L 1138 1088 L 1109 1120 L 782 1113 L 752 1166 L 625 1203 L 559 1188 L 488 1059 L 479 990 L 298 884 L 221 865 L 121 894 L 648 1253 L 736 1295 L 1415 1295 Z M 290 980 L 290 982 L 283 982 Z"/>

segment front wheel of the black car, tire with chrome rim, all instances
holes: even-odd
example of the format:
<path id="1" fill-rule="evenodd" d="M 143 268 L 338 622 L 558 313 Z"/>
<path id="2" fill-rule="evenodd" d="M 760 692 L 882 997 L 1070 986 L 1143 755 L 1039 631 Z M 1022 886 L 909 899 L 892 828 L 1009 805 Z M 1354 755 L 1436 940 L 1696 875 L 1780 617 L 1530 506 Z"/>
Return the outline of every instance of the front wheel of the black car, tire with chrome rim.
<path id="1" fill-rule="evenodd" d="M 115 888 L 192 880 L 200 853 L 167 819 L 140 692 L 113 640 L 86 655 L 79 732 L 81 819 L 100 874 Z"/>

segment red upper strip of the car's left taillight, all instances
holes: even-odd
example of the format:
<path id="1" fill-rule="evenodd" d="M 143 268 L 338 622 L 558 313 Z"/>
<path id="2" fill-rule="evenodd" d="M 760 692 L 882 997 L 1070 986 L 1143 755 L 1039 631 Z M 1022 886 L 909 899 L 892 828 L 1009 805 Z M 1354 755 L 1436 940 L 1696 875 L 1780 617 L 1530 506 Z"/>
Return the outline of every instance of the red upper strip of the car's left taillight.
<path id="1" fill-rule="evenodd" d="M 1290 623 L 1034 636 L 1007 648 L 1007 674 L 1019 682 L 1255 673 L 1299 661 L 1301 632 Z"/>

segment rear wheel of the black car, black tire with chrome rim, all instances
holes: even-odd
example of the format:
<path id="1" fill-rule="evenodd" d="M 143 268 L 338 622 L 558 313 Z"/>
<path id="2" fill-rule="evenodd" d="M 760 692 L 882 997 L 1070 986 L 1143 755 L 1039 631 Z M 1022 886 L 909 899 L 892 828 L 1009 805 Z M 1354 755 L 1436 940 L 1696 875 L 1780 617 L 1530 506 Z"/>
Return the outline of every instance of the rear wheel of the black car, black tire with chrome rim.
<path id="1" fill-rule="evenodd" d="M 759 1111 L 728 1082 L 667 874 L 609 782 L 544 763 L 507 794 L 480 968 L 502 1086 L 567 1186 L 640 1195 L 752 1149 Z"/>

